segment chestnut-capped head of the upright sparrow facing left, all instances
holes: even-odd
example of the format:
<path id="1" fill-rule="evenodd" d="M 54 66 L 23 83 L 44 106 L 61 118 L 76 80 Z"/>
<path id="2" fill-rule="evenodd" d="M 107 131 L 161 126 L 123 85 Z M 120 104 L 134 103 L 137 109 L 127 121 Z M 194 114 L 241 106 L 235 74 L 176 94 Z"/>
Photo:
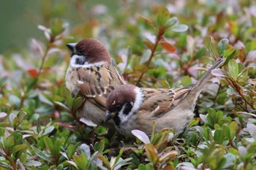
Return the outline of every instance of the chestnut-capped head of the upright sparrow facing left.
<path id="1" fill-rule="evenodd" d="M 110 53 L 97 39 L 83 39 L 77 43 L 69 43 L 67 47 L 72 51 L 70 63 L 74 66 L 111 63 Z"/>

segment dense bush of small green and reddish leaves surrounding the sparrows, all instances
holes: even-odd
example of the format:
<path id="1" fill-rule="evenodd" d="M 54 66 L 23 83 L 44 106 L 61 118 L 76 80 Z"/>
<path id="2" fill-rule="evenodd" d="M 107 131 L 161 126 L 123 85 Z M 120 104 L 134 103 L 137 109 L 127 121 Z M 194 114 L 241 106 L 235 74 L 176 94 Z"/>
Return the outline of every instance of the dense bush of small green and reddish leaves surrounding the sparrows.
<path id="1" fill-rule="evenodd" d="M 255 2 L 120 1 L 112 15 L 73 3 L 80 24 L 52 4 L 38 26 L 45 39 L 0 55 L 0 169 L 256 169 Z M 79 123 L 83 98 L 64 88 L 65 45 L 86 37 L 104 42 L 127 82 L 142 87 L 189 85 L 214 58 L 226 62 L 183 134 L 126 139 Z"/>

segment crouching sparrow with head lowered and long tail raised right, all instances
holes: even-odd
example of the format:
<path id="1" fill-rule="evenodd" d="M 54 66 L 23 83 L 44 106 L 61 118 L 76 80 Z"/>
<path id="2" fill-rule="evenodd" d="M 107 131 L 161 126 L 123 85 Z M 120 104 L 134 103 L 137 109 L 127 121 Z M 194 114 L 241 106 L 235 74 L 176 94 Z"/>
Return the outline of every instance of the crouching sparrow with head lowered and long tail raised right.
<path id="1" fill-rule="evenodd" d="M 116 130 L 124 136 L 132 136 L 134 129 L 150 135 L 153 122 L 156 123 L 156 132 L 170 128 L 180 134 L 194 116 L 197 98 L 210 79 L 211 71 L 222 66 L 224 61 L 219 58 L 195 85 L 187 87 L 118 86 L 108 95 L 105 121 L 113 118 Z"/>

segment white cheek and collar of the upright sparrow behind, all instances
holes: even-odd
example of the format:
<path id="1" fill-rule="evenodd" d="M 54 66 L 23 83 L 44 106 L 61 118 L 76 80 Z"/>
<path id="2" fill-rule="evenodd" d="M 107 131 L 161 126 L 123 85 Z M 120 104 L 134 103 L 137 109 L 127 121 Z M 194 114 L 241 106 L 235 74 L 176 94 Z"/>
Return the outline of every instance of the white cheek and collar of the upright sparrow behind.
<path id="1" fill-rule="evenodd" d="M 72 57 L 70 59 L 69 66 L 71 66 L 72 68 L 80 68 L 80 67 L 82 67 L 82 68 L 87 69 L 87 68 L 91 68 L 93 66 L 102 66 L 105 63 L 107 63 L 105 61 L 99 61 L 97 63 L 88 63 L 87 61 L 85 61 L 83 63 L 83 65 L 80 65 L 80 64 L 76 63 L 77 60 L 83 61 L 83 60 L 85 60 L 85 57 L 83 55 L 72 55 Z"/>

